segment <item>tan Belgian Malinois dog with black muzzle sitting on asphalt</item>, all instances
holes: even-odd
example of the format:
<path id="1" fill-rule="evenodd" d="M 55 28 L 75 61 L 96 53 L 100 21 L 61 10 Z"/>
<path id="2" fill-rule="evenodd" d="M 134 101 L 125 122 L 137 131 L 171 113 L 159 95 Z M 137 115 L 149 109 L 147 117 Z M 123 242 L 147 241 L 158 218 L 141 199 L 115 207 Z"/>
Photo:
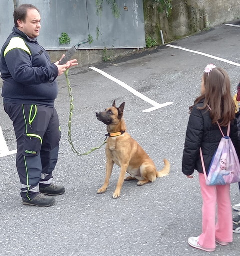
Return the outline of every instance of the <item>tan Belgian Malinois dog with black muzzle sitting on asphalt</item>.
<path id="1" fill-rule="evenodd" d="M 126 132 L 126 124 L 123 120 L 124 106 L 125 102 L 117 108 L 114 100 L 112 107 L 107 108 L 104 112 L 96 112 L 97 119 L 107 125 L 108 132 L 106 143 L 106 178 L 103 186 L 97 190 L 97 193 L 106 192 L 113 165 L 117 164 L 121 170 L 115 192 L 112 195 L 113 198 L 120 196 L 124 180 L 137 179 L 137 185 L 142 186 L 150 181 L 155 181 L 156 177 L 168 175 L 170 171 L 170 162 L 164 159 L 165 166 L 158 172 L 152 159 Z M 126 172 L 130 174 L 127 178 L 125 178 Z"/>

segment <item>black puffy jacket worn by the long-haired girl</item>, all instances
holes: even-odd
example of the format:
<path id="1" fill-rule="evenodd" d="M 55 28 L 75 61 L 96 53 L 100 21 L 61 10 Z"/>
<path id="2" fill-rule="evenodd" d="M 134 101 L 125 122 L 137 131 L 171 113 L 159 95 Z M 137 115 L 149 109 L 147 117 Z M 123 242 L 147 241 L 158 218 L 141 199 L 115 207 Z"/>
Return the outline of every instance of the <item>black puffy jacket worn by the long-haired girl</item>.
<path id="1" fill-rule="evenodd" d="M 200 147 L 202 148 L 206 171 L 209 169 L 211 159 L 222 138 L 221 131 L 217 124 L 212 124 L 209 109 L 198 109 L 203 102 L 195 105 L 191 111 L 186 130 L 185 148 L 182 158 L 182 172 L 191 175 L 194 170 L 203 173 Z M 224 135 L 227 127 L 221 127 Z M 237 124 L 236 119 L 231 122 L 230 138 L 237 150 Z"/>

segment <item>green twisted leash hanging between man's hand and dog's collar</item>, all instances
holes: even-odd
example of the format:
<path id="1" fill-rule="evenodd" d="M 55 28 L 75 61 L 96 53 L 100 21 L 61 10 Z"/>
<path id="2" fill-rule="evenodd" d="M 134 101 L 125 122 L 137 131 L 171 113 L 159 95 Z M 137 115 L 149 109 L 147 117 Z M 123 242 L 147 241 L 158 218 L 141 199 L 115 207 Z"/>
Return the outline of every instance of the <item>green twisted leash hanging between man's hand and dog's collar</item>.
<path id="1" fill-rule="evenodd" d="M 71 145 L 71 149 L 74 153 L 77 154 L 77 156 L 83 156 L 83 155 L 88 155 L 90 154 L 91 152 L 95 151 L 96 149 L 100 149 L 105 143 L 106 143 L 106 139 L 104 140 L 104 142 L 98 146 L 98 147 L 95 147 L 95 148 L 92 148 L 91 150 L 85 152 L 85 153 L 79 153 L 73 143 L 72 143 L 72 140 L 71 140 L 71 119 L 72 119 L 72 116 L 73 116 L 73 109 L 74 109 L 74 105 L 73 105 L 73 96 L 71 94 L 71 83 L 70 83 L 70 80 L 68 78 L 68 71 L 69 69 L 67 69 L 64 73 L 65 73 L 65 77 L 66 77 L 66 84 L 67 84 L 67 89 L 68 89 L 68 94 L 69 94 L 69 98 L 70 98 L 70 114 L 69 114 L 69 121 L 68 121 L 68 141 Z M 107 137 L 106 137 L 107 138 Z"/>

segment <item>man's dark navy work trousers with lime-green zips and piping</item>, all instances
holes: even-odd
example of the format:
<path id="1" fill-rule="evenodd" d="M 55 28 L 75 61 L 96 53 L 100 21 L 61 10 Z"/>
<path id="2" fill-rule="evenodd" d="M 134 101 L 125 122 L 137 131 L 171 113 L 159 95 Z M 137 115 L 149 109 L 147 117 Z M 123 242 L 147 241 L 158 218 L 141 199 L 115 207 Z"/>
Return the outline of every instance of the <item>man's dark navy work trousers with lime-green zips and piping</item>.
<path id="1" fill-rule="evenodd" d="M 52 182 L 58 159 L 60 125 L 54 107 L 4 103 L 16 135 L 16 167 L 21 196 L 31 200 Z"/>

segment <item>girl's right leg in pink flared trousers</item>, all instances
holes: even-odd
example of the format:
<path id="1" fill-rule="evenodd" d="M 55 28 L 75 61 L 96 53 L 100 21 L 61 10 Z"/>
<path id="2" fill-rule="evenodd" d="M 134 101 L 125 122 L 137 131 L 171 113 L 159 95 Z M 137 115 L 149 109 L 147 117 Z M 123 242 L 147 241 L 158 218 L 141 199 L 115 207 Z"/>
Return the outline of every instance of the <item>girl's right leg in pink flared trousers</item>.
<path id="1" fill-rule="evenodd" d="M 230 184 L 216 186 L 217 224 L 216 239 L 221 242 L 232 242 L 232 212 Z"/>

